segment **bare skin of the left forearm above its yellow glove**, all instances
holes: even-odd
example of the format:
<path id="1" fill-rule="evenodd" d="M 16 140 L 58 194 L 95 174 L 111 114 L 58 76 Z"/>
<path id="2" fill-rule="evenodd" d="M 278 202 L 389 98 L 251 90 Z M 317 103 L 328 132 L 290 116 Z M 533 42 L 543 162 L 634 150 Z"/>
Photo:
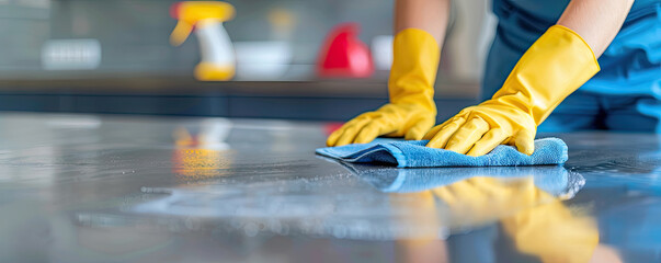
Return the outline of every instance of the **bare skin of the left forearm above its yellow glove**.
<path id="1" fill-rule="evenodd" d="M 395 0 L 395 34 L 406 28 L 420 28 L 443 45 L 449 0 Z"/>

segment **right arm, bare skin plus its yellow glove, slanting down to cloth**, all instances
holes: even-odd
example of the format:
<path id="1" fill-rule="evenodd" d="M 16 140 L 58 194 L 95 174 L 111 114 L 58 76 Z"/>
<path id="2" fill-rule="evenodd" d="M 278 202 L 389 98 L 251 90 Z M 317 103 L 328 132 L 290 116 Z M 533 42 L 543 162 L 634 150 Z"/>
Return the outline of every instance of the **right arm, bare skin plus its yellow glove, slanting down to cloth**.
<path id="1" fill-rule="evenodd" d="M 596 58 L 622 27 L 631 4 L 631 0 L 572 0 L 491 100 L 432 128 L 423 137 L 430 140 L 426 146 L 482 156 L 504 144 L 532 155 L 537 126 L 599 72 Z"/>

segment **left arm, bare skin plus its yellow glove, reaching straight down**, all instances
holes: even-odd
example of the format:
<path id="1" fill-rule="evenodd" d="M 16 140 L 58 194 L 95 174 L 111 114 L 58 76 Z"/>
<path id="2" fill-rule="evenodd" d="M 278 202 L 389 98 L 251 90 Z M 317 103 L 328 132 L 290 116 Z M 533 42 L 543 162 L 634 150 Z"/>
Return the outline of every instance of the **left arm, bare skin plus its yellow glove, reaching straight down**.
<path id="1" fill-rule="evenodd" d="M 378 136 L 419 140 L 434 126 L 434 81 L 448 13 L 449 0 L 396 0 L 390 102 L 349 121 L 328 137 L 328 146 Z"/>

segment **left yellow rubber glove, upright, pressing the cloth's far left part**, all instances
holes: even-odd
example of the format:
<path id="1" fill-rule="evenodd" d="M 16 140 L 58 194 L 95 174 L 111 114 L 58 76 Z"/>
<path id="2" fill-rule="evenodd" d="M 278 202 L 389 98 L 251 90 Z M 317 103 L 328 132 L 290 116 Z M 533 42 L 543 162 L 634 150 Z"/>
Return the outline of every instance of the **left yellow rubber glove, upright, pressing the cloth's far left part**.
<path id="1" fill-rule="evenodd" d="M 394 60 L 388 81 L 390 103 L 358 115 L 328 137 L 328 146 L 366 144 L 376 137 L 422 139 L 434 126 L 434 81 L 440 47 L 425 31 L 407 28 L 394 41 Z"/>

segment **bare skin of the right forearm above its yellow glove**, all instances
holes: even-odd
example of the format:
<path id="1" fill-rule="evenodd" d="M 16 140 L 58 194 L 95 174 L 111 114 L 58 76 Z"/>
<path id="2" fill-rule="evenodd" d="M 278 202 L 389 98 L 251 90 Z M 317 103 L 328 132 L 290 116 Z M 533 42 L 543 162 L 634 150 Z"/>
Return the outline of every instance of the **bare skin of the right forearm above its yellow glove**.
<path id="1" fill-rule="evenodd" d="M 558 24 L 578 33 L 599 58 L 622 27 L 634 0 L 572 0 Z"/>

